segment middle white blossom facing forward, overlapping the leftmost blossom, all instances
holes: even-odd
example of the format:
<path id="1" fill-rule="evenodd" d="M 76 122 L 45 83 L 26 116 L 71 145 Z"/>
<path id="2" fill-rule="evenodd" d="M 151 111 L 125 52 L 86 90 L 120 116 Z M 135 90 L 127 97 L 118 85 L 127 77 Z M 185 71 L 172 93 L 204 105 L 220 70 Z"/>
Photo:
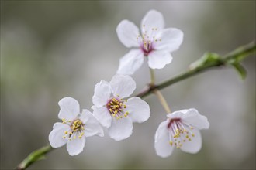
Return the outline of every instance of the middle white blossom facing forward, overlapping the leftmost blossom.
<path id="1" fill-rule="evenodd" d="M 142 123 L 150 117 L 150 107 L 140 97 L 129 97 L 136 88 L 130 76 L 116 75 L 110 82 L 102 80 L 95 86 L 93 114 L 108 128 L 116 141 L 130 137 L 133 122 Z"/>

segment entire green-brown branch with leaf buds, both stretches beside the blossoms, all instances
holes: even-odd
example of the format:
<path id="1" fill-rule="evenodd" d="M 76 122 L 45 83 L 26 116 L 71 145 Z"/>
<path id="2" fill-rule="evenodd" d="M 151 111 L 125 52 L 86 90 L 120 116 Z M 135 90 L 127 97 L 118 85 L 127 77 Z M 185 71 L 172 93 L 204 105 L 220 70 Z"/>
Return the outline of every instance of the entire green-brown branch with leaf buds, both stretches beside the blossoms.
<path id="1" fill-rule="evenodd" d="M 218 66 L 234 66 L 234 68 L 238 71 L 238 73 L 240 73 L 240 76 L 244 78 L 246 76 L 246 71 L 244 67 L 240 65 L 240 61 L 245 57 L 255 53 L 255 51 L 256 51 L 255 42 L 251 42 L 250 44 L 247 44 L 246 46 L 242 46 L 234 50 L 233 52 L 228 53 L 226 56 L 223 56 L 223 57 L 220 57 L 215 53 L 206 53 L 204 56 L 202 56 L 201 59 L 199 59 L 195 63 L 192 63 L 192 65 L 189 67 L 189 70 L 187 72 L 182 73 L 179 76 L 175 76 L 174 78 L 167 80 L 163 83 L 160 83 L 158 85 L 150 84 L 149 87 L 147 87 L 147 90 L 144 90 L 144 92 L 139 93 L 137 97 L 146 97 L 150 93 L 153 93 L 154 90 L 164 89 L 165 87 L 171 86 L 174 83 L 185 80 L 198 73 L 202 73 L 206 70 L 209 70 L 210 68 L 218 67 Z M 54 148 L 51 148 L 50 145 L 47 145 L 43 148 L 33 151 L 31 154 L 27 156 L 27 158 L 25 158 L 17 166 L 16 169 L 23 170 L 28 168 L 29 165 L 32 165 L 34 162 L 37 162 L 45 158 L 45 155 L 53 149 Z"/>

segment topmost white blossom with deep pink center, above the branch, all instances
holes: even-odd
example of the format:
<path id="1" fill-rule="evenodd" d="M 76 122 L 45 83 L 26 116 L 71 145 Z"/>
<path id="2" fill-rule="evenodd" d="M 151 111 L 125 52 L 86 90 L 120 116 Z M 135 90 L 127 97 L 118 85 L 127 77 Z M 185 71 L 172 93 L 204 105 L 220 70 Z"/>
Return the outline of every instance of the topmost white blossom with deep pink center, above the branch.
<path id="1" fill-rule="evenodd" d="M 117 73 L 130 75 L 140 68 L 147 59 L 151 69 L 162 69 L 171 63 L 171 52 L 182 44 L 183 32 L 179 29 L 164 29 L 164 18 L 160 12 L 150 10 L 141 21 L 141 33 L 138 27 L 123 20 L 116 28 L 120 42 L 127 48 L 136 47 L 126 53 L 119 61 Z"/>

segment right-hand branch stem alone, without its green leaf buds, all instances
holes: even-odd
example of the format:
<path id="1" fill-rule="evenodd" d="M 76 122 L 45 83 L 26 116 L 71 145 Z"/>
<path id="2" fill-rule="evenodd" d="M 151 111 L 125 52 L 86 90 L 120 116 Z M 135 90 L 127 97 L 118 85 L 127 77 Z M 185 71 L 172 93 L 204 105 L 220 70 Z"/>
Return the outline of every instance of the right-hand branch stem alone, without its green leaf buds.
<path id="1" fill-rule="evenodd" d="M 255 51 L 256 51 L 255 42 L 251 42 L 245 46 L 241 46 L 240 48 L 235 49 L 231 53 L 228 53 L 227 55 L 223 56 L 223 58 L 220 58 L 215 62 L 202 64 L 200 66 L 193 68 L 192 70 L 188 70 L 185 73 L 175 76 L 170 80 L 166 80 L 163 83 L 155 85 L 154 87 L 148 87 L 147 90 L 144 90 L 143 92 L 138 93 L 137 97 L 142 97 L 142 98 L 147 97 L 150 93 L 154 92 L 154 89 L 158 89 L 158 90 L 164 89 L 165 87 L 171 86 L 174 83 L 178 83 L 179 81 L 185 80 L 191 76 L 195 76 L 196 74 L 202 73 L 213 67 L 230 66 L 230 64 L 234 63 L 234 61 L 238 60 L 240 62 L 242 59 L 246 58 L 247 56 L 254 54 Z"/>

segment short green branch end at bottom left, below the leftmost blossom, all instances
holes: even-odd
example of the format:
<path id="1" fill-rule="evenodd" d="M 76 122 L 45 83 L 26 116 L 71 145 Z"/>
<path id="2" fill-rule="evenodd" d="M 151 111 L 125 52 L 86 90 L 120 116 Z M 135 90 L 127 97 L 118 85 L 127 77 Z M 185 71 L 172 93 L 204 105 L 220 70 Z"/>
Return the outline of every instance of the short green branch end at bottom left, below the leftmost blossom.
<path id="1" fill-rule="evenodd" d="M 37 149 L 29 154 L 17 167 L 17 170 L 23 170 L 32 165 L 34 162 L 37 162 L 44 157 L 48 152 L 52 151 L 54 148 L 51 148 L 50 145 L 44 146 L 43 148 Z"/>

